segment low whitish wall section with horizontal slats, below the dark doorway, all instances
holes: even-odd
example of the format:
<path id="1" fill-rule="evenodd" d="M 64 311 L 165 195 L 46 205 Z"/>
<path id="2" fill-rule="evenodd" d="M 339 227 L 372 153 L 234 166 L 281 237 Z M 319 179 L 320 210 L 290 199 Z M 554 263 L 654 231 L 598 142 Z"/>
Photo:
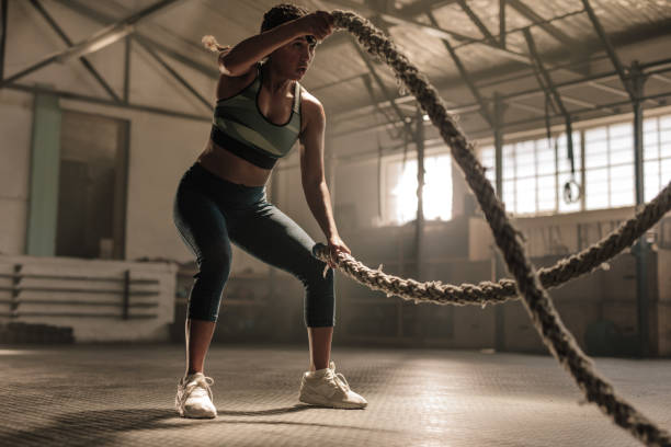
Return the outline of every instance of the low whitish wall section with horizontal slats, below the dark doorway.
<path id="1" fill-rule="evenodd" d="M 14 280 L 7 275 L 13 274 L 16 266 L 25 276 L 16 280 L 12 291 Z M 126 271 L 130 272 L 132 280 L 149 279 L 158 284 L 130 283 L 129 318 L 124 320 L 123 277 Z M 0 273 L 1 322 L 69 326 L 76 342 L 168 340 L 168 326 L 174 319 L 174 264 L 5 255 L 0 256 Z M 156 295 L 137 295 L 136 291 Z M 152 306 L 143 307 L 143 303 Z"/>

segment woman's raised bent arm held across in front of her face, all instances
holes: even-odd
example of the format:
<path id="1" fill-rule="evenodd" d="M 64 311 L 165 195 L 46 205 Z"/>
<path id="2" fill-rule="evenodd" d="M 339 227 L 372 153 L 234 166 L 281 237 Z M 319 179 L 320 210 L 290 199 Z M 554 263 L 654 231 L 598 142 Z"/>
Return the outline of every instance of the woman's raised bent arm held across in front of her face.
<path id="1" fill-rule="evenodd" d="M 259 60 L 273 53 L 296 37 L 312 35 L 318 41 L 323 39 L 333 31 L 333 18 L 325 11 L 304 15 L 303 18 L 283 23 L 264 33 L 251 36 L 240 42 L 230 50 L 219 54 L 219 71 L 224 76 L 242 76 Z"/>

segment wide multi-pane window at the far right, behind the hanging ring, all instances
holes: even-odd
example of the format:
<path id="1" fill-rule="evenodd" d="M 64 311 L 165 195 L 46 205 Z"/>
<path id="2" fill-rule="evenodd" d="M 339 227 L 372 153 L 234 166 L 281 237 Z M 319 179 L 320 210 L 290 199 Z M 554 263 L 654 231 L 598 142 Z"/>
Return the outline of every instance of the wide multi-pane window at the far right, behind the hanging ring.
<path id="1" fill-rule="evenodd" d="M 584 154 L 581 153 L 584 139 Z M 567 138 L 503 145 L 503 202 L 509 213 L 570 213 L 632 206 L 636 203 L 634 175 L 634 126 L 617 123 L 573 133 L 571 174 Z M 486 176 L 496 181 L 494 149 L 480 150 Z M 584 167 L 582 165 L 584 163 Z M 564 185 L 571 179 L 583 184 L 584 197 L 566 203 Z M 652 199 L 671 181 L 671 115 L 644 119 L 644 192 Z"/>

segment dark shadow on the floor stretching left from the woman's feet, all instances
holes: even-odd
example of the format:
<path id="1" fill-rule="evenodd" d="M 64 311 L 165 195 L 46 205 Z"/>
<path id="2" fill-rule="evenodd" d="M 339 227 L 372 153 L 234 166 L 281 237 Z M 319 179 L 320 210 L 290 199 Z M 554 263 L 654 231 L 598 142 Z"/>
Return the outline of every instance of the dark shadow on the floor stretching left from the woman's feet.
<path id="1" fill-rule="evenodd" d="M 172 409 L 116 409 L 67 413 L 55 416 L 49 425 L 16 429 L 0 435 L 0 446 L 106 446 L 114 444 L 117 435 L 133 431 L 179 429 L 202 424 L 271 424 L 330 428 L 369 429 L 366 427 L 294 421 L 244 421 L 223 416 L 269 416 L 296 413 L 319 406 L 297 404 L 260 411 L 218 411 L 216 420 L 185 420 Z M 34 414 L 31 422 L 34 421 Z"/>

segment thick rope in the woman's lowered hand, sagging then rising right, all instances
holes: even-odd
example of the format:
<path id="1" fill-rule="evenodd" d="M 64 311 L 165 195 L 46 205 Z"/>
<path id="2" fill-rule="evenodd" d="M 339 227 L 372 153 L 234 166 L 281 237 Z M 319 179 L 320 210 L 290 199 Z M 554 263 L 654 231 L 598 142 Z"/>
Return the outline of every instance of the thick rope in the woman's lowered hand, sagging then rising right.
<path id="1" fill-rule="evenodd" d="M 599 268 L 604 262 L 630 247 L 670 209 L 671 183 L 615 231 L 583 251 L 557 261 L 551 267 L 538 270 L 541 284 L 545 288 L 557 287 Z M 317 244 L 315 255 L 326 262 L 329 257 L 327 247 L 321 243 Z M 521 298 L 518 295 L 515 282 L 508 278 L 498 283 L 485 280 L 477 285 L 462 284 L 459 286 L 442 284 L 440 280 L 419 283 L 414 279 L 403 279 L 388 275 L 382 271 L 382 266 L 377 270 L 368 268 L 346 253 L 341 253 L 340 259 L 334 261 L 345 276 L 374 290 L 382 290 L 388 297 L 398 296 L 414 301 L 414 303 L 479 305 L 485 307 L 488 303 L 498 305 Z"/>

